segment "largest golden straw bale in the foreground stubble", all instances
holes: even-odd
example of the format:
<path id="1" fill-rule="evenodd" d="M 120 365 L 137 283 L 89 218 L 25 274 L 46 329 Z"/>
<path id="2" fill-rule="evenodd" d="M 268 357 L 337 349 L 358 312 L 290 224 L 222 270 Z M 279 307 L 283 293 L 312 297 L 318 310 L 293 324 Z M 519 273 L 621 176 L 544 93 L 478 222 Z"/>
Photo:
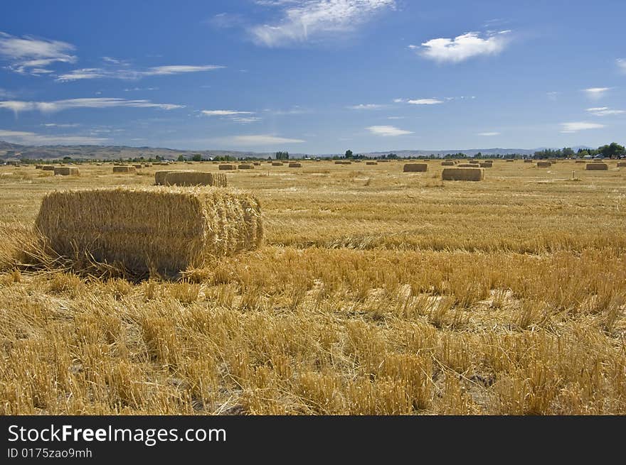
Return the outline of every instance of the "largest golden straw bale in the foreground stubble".
<path id="1" fill-rule="evenodd" d="M 36 228 L 61 256 L 166 274 L 258 248 L 263 234 L 255 197 L 206 187 L 51 192 Z"/>

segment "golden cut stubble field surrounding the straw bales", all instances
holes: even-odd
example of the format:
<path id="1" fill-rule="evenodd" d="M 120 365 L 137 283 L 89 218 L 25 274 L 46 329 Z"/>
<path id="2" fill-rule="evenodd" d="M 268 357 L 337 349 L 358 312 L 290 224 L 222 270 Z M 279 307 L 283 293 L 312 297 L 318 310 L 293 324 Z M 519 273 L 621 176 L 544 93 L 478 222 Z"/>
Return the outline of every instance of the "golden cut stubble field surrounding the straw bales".
<path id="1" fill-rule="evenodd" d="M 428 164 L 229 171 L 265 244 L 137 282 L 23 251 L 46 192 L 171 168 L 0 167 L 0 413 L 626 413 L 626 168 Z"/>

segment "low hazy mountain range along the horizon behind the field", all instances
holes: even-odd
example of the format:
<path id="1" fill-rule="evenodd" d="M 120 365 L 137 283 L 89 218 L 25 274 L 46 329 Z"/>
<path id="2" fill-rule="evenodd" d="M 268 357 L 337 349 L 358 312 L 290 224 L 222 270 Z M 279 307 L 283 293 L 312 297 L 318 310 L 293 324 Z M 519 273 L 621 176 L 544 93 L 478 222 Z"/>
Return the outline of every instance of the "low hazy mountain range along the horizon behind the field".
<path id="1" fill-rule="evenodd" d="M 437 157 L 444 157 L 453 153 L 465 153 L 466 155 L 474 156 L 477 153 L 482 155 L 511 155 L 513 153 L 519 153 L 521 155 L 532 155 L 536 151 L 545 149 L 541 148 L 466 148 L 452 151 L 428 151 L 428 150 L 402 150 L 402 151 L 383 151 L 383 152 L 361 152 L 361 155 L 366 157 L 376 158 L 382 155 L 388 155 L 389 153 L 395 153 L 398 157 L 409 158 L 425 155 L 435 155 Z M 574 151 L 578 151 L 579 148 L 590 148 L 587 146 L 572 147 Z M 187 151 L 187 150 L 174 150 L 171 148 L 154 148 L 154 147 L 129 147 L 129 146 L 22 146 L 17 143 L 10 143 L 0 141 L 0 159 L 4 160 L 19 160 L 19 159 L 31 159 L 31 160 L 54 160 L 63 157 L 72 157 L 86 160 L 117 160 L 119 158 L 156 158 L 157 155 L 161 158 L 175 160 L 179 155 L 184 155 L 186 158 L 191 158 L 193 154 L 199 153 L 203 158 L 213 158 L 217 156 L 230 155 L 235 158 L 245 157 L 258 157 L 267 158 L 274 155 L 274 152 L 245 152 L 245 151 L 221 151 L 221 150 L 206 150 L 206 151 Z M 356 153 L 355 153 L 356 154 Z M 305 157 L 332 157 L 334 155 L 343 155 L 339 153 L 325 153 L 325 154 L 307 154 L 307 153 L 290 153 L 290 158 L 305 158 Z"/>

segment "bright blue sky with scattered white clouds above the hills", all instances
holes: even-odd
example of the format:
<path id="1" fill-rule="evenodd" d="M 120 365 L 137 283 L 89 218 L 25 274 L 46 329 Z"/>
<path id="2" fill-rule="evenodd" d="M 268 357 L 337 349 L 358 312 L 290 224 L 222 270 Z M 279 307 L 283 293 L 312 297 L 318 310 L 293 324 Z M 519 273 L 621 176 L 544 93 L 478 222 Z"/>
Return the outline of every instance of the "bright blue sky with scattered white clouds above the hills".
<path id="1" fill-rule="evenodd" d="M 626 142 L 624 1 L 11 1 L 0 140 L 355 153 Z"/>

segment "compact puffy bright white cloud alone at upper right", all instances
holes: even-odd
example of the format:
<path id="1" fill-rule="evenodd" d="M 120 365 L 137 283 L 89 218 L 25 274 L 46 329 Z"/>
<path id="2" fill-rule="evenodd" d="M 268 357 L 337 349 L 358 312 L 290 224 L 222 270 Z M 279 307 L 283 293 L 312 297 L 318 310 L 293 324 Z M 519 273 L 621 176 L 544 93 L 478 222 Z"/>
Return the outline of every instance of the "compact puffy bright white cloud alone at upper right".
<path id="1" fill-rule="evenodd" d="M 510 32 L 487 33 L 484 38 L 479 33 L 469 32 L 455 38 L 430 39 L 421 47 L 409 45 L 409 48 L 430 60 L 457 63 L 479 55 L 497 55 L 509 44 Z"/>

